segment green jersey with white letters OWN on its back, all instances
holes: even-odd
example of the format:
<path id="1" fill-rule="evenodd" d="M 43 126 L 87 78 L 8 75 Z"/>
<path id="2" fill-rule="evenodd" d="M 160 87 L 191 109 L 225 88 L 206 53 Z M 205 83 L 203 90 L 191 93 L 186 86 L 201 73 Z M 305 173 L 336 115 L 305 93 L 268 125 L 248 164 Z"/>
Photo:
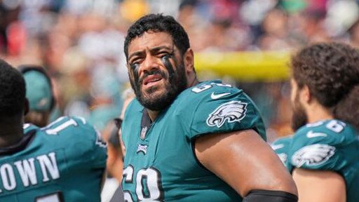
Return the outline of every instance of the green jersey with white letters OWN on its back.
<path id="1" fill-rule="evenodd" d="M 84 119 L 61 117 L 0 149 L 0 201 L 100 201 L 107 148 Z"/>

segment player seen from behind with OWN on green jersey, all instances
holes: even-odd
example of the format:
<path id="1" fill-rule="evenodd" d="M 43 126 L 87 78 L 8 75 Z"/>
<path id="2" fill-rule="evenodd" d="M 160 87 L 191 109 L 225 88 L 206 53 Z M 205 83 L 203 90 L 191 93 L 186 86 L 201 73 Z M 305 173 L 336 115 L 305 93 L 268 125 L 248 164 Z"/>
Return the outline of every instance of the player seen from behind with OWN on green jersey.
<path id="1" fill-rule="evenodd" d="M 100 201 L 106 145 L 79 118 L 23 124 L 25 80 L 0 60 L 0 201 Z"/>

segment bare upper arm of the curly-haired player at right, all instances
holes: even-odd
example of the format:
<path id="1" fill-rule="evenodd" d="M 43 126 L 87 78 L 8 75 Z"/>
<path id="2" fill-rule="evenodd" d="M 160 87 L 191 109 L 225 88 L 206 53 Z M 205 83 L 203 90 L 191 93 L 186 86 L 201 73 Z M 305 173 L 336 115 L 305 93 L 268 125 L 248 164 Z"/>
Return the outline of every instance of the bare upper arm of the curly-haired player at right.
<path id="1" fill-rule="evenodd" d="M 299 201 L 345 202 L 346 188 L 341 175 L 332 171 L 295 168 L 293 179 L 298 187 Z"/>

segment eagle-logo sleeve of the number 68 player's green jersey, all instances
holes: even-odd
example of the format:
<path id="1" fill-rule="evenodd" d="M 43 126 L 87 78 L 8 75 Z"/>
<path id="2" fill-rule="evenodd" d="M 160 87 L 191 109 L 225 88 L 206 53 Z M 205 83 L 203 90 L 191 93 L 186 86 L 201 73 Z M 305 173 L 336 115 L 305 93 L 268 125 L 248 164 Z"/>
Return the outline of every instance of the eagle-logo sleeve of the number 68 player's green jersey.
<path id="1" fill-rule="evenodd" d="M 209 133 L 253 129 L 265 140 L 264 123 L 259 111 L 243 90 L 215 83 L 208 90 L 198 92 L 195 88 L 191 93 L 191 96 L 197 97 L 189 123 L 191 139 Z"/>

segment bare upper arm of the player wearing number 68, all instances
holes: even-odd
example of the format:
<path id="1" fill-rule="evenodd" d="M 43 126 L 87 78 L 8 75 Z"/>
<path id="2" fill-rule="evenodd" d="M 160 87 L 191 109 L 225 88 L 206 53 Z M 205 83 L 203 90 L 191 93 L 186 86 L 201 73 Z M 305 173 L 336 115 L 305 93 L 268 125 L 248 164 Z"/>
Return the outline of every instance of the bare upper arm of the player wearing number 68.
<path id="1" fill-rule="evenodd" d="M 205 168 L 243 197 L 254 189 L 297 195 L 292 177 L 271 147 L 254 130 L 198 137 L 195 152 Z"/>

